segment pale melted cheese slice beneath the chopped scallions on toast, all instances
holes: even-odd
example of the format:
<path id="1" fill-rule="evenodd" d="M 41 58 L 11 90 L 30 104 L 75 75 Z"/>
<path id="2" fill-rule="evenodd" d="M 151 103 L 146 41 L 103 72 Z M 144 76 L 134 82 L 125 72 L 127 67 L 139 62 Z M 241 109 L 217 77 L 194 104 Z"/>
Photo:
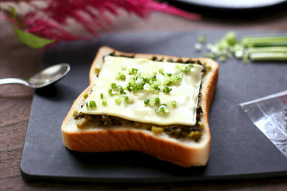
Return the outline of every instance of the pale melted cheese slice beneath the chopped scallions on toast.
<path id="1" fill-rule="evenodd" d="M 183 78 L 180 83 L 171 84 L 172 88 L 170 93 L 159 92 L 157 95 L 160 99 L 160 104 L 166 103 L 169 113 L 156 114 L 155 108 L 144 104 L 146 98 L 151 98 L 153 93 L 147 90 L 138 90 L 136 93 L 129 92 L 130 100 L 133 97 L 133 102 L 126 102 L 122 95 L 110 95 L 108 90 L 111 88 L 110 83 L 114 82 L 122 87 L 127 87 L 130 78 L 134 75 L 129 75 L 128 69 L 136 68 L 142 73 L 148 73 L 150 76 L 156 75 L 157 79 L 163 81 L 164 76 L 158 73 L 153 73 L 152 69 L 162 68 L 164 73 L 177 74 L 181 73 L 176 69 L 176 65 L 183 65 L 181 63 L 165 62 L 165 61 L 152 61 L 146 58 L 126 58 L 106 56 L 104 59 L 103 67 L 95 82 L 95 88 L 92 94 L 86 99 L 89 103 L 90 100 L 96 102 L 95 108 L 83 107 L 82 111 L 85 114 L 107 114 L 117 116 L 124 119 L 154 123 L 158 125 L 170 124 L 183 124 L 195 125 L 196 123 L 196 108 L 198 101 L 199 87 L 202 76 L 202 66 L 193 65 L 190 72 L 182 72 Z M 122 70 L 121 67 L 127 67 Z M 187 66 L 187 65 L 185 65 Z M 121 72 L 126 75 L 125 80 L 116 80 L 115 76 Z M 113 92 L 115 92 L 113 90 Z M 107 105 L 102 104 L 100 93 L 104 94 L 104 99 L 107 100 Z M 127 94 L 128 95 L 128 94 Z M 115 102 L 115 98 L 121 98 L 120 103 Z M 172 102 L 176 101 L 176 107 L 173 107 Z"/>

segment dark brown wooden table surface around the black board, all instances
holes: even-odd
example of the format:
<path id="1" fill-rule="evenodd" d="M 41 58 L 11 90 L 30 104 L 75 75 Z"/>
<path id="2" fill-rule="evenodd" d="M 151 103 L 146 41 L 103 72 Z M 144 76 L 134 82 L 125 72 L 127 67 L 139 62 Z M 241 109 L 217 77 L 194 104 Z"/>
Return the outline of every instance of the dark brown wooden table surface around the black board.
<path id="1" fill-rule="evenodd" d="M 147 20 L 122 14 L 114 19 L 111 32 L 138 32 L 163 30 L 270 30 L 287 31 L 287 11 L 252 20 L 222 20 L 203 18 L 187 20 L 163 13 L 155 13 Z M 73 27 L 76 33 L 82 33 Z M 37 72 L 42 52 L 18 42 L 10 25 L 0 21 L 0 78 L 29 77 Z M 20 175 L 26 130 L 34 90 L 10 84 L 0 86 L 0 190 L 50 190 L 50 189 L 237 189 L 237 190 L 287 190 L 287 177 L 256 180 L 208 181 L 159 185 L 97 185 L 56 182 L 27 182 Z"/>

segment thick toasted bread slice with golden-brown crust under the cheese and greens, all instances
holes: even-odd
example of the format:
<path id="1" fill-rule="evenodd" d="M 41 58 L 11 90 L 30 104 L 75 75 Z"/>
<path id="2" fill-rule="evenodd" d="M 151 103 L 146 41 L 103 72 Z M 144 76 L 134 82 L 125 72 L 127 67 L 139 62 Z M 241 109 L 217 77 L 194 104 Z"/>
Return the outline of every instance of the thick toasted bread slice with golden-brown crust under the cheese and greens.
<path id="1" fill-rule="evenodd" d="M 142 128 L 147 125 L 129 120 L 125 125 L 113 124 L 108 127 L 98 125 L 95 120 L 91 120 L 90 122 L 86 120 L 84 126 L 82 124 L 77 125 L 77 120 L 83 117 L 83 115 L 79 116 L 79 113 L 77 114 L 75 111 L 80 111 L 83 106 L 85 107 L 87 95 L 97 85 L 96 81 L 104 64 L 104 56 L 107 55 L 153 60 L 177 60 L 178 62 L 190 63 L 192 60 L 192 62 L 202 64 L 205 72 L 201 78 L 200 96 L 198 96 L 198 105 L 200 105 L 201 109 L 197 109 L 196 123 L 196 126 L 200 129 L 200 137 L 198 139 L 190 139 L 188 137 L 176 138 L 164 131 L 151 131 L 149 125 L 149 128 Z M 211 143 L 208 115 L 216 89 L 218 76 L 217 62 L 209 58 L 191 59 L 166 55 L 123 53 L 109 47 L 101 47 L 92 63 L 89 76 L 90 86 L 74 101 L 61 125 L 64 145 L 67 148 L 78 152 L 140 151 L 183 167 L 207 164 Z"/>

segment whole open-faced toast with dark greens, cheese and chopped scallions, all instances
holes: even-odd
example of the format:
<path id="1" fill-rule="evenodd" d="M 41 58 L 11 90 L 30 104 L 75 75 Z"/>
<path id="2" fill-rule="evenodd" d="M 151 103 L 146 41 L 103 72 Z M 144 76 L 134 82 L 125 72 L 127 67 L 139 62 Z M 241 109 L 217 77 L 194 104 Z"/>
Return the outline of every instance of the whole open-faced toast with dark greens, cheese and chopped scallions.
<path id="1" fill-rule="evenodd" d="M 78 152 L 140 151 L 180 166 L 206 165 L 218 64 L 209 58 L 99 49 L 90 86 L 61 126 Z"/>

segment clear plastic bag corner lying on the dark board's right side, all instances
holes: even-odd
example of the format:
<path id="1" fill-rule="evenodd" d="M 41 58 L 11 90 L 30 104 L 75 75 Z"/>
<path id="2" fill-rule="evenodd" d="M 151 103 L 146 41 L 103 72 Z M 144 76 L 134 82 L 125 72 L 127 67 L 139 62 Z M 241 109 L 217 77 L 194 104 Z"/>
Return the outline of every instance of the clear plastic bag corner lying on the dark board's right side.
<path id="1" fill-rule="evenodd" d="M 240 103 L 241 108 L 287 157 L 287 91 Z"/>

